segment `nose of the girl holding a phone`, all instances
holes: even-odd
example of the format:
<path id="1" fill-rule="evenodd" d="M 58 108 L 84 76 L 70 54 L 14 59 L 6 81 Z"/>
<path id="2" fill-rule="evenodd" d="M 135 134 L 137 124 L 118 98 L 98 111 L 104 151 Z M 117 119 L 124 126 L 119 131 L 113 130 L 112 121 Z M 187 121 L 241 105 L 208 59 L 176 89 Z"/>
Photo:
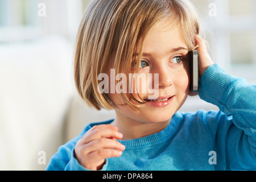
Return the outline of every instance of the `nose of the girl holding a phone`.
<path id="1" fill-rule="evenodd" d="M 168 71 L 167 67 L 158 67 L 156 73 L 159 74 L 159 89 L 167 88 L 173 84 L 171 72 Z"/>

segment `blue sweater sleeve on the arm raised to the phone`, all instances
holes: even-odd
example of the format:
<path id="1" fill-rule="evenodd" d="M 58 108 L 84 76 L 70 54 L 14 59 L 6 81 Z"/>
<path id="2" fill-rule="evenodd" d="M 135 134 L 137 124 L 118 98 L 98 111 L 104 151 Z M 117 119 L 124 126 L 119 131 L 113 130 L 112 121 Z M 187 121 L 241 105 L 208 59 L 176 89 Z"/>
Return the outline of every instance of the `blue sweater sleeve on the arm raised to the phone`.
<path id="1" fill-rule="evenodd" d="M 201 77 L 199 96 L 225 114 L 218 121 L 215 142 L 221 169 L 256 169 L 256 85 L 214 64 Z"/>

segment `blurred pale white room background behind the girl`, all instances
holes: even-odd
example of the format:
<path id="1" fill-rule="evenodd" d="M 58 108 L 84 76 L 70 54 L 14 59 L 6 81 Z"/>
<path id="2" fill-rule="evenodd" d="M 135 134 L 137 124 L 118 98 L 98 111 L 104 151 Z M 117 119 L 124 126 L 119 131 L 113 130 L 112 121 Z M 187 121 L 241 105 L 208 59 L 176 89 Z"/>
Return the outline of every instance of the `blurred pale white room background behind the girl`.
<path id="1" fill-rule="evenodd" d="M 191 0 L 210 55 L 226 72 L 256 83 L 256 1 Z M 57 148 L 89 122 L 73 83 L 75 37 L 89 0 L 0 0 L 0 170 L 44 170 Z M 181 111 L 217 110 L 189 97 Z"/>

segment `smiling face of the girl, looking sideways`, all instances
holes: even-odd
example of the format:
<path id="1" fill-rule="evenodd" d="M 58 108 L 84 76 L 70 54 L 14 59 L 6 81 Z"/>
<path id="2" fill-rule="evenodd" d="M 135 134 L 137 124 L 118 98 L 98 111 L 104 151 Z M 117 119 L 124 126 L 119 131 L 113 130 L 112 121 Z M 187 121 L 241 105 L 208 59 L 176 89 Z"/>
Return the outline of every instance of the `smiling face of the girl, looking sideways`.
<path id="1" fill-rule="evenodd" d="M 171 27 L 166 22 L 160 22 L 148 32 L 142 51 L 139 74 L 152 73 L 152 80 L 154 80 L 154 74 L 158 73 L 157 88 L 154 88 L 154 82 L 151 83 L 155 93 L 158 93 L 156 97 L 158 101 L 150 100 L 147 104 L 137 104 L 131 100 L 141 108 L 137 113 L 128 105 L 123 105 L 125 102 L 121 94 L 111 93 L 110 100 L 117 106 L 115 108 L 117 119 L 146 123 L 170 121 L 172 115 L 183 105 L 189 92 L 187 46 L 177 26 Z M 134 57 L 138 59 L 138 56 L 134 55 Z M 136 59 L 133 65 L 136 65 Z M 131 72 L 133 69 L 136 68 L 131 67 Z M 145 82 L 139 82 L 139 86 L 140 88 L 145 86 Z M 135 87 L 134 85 L 133 88 Z M 148 96 L 152 93 L 141 92 L 139 95 L 144 100 L 148 100 Z M 136 93 L 133 93 L 133 96 L 140 100 Z"/>

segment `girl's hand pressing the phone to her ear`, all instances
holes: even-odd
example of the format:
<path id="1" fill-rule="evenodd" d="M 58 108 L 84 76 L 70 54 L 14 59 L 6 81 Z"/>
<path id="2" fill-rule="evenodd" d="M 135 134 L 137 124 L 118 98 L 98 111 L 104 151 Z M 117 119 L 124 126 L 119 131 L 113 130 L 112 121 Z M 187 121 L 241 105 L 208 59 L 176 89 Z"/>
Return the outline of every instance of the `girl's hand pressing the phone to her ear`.
<path id="1" fill-rule="evenodd" d="M 210 65 L 213 65 L 213 61 L 207 52 L 207 46 L 205 45 L 204 40 L 199 35 L 196 35 L 195 39 L 196 45 L 199 46 L 197 51 L 199 51 L 199 77 L 201 78 L 205 70 L 207 70 Z"/>

